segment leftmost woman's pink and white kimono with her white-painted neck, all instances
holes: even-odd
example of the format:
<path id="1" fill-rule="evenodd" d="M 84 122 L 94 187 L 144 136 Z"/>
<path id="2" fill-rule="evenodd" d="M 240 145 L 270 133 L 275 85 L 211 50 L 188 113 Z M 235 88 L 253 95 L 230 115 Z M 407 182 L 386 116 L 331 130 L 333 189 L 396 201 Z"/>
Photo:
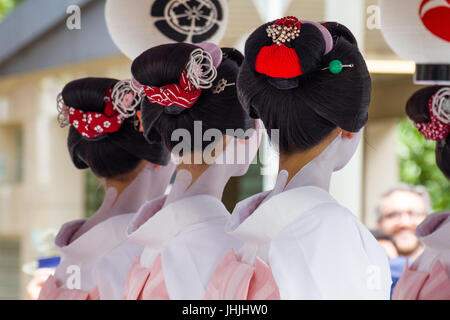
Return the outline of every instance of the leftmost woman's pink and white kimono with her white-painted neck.
<path id="1" fill-rule="evenodd" d="M 90 218 L 99 222 L 73 241 L 74 233 L 88 219 L 64 224 L 55 240 L 61 262 L 39 299 L 120 299 L 131 265 L 128 261 L 142 251 L 139 244 L 127 240 L 126 228 L 143 203 L 164 194 L 174 170 L 173 163 L 164 167 L 148 164 L 119 197 L 115 188 L 108 188 L 102 206 Z M 131 258 L 118 259 L 117 250 Z"/>

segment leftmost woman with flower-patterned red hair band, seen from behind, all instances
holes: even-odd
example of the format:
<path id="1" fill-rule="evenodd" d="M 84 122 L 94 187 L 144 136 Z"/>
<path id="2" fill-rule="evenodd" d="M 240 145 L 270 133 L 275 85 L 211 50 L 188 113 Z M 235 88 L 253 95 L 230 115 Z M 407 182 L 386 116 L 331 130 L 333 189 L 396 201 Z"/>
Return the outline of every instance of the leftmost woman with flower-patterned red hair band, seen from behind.
<path id="1" fill-rule="evenodd" d="M 125 260 L 102 267 L 114 274 L 107 291 L 97 277 L 101 259 L 117 247 L 136 257 L 142 248 L 126 243 L 125 228 L 141 205 L 164 194 L 175 165 L 161 142 L 148 143 L 136 128 L 140 103 L 129 81 L 85 78 L 68 83 L 58 96 L 58 122 L 70 126 L 67 145 L 73 164 L 104 180 L 105 198 L 88 219 L 64 224 L 56 237 L 61 262 L 40 299 L 116 298 L 128 268 Z"/>

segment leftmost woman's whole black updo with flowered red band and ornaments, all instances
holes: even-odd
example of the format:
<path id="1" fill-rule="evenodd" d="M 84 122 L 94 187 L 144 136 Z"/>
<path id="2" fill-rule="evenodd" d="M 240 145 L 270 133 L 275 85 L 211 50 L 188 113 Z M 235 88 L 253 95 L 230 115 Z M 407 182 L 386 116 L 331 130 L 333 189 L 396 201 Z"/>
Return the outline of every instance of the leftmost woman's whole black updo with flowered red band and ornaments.
<path id="1" fill-rule="evenodd" d="M 129 81 L 84 78 L 64 87 L 58 96 L 58 122 L 70 126 L 67 144 L 75 167 L 117 178 L 141 160 L 168 163 L 170 154 L 162 144 L 149 144 L 136 129 L 132 106 L 138 99 Z"/>

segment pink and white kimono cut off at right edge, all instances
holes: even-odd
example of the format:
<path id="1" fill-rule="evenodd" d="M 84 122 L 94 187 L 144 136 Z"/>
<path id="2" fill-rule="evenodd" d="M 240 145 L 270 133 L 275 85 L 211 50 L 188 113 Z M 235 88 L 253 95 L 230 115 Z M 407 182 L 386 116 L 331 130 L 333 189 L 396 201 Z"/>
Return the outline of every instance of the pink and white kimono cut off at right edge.
<path id="1" fill-rule="evenodd" d="M 425 249 L 394 288 L 394 300 L 450 300 L 450 212 L 434 213 L 416 229 Z"/>

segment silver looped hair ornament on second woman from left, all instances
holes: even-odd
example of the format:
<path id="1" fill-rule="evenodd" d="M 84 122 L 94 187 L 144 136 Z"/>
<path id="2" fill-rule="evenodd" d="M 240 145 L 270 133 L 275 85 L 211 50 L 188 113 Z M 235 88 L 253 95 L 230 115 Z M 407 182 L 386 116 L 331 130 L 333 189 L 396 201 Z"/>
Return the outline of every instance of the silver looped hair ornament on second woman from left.
<path id="1" fill-rule="evenodd" d="M 197 89 L 209 89 L 217 77 L 217 69 L 209 52 L 195 49 L 186 65 L 186 76 Z"/>

